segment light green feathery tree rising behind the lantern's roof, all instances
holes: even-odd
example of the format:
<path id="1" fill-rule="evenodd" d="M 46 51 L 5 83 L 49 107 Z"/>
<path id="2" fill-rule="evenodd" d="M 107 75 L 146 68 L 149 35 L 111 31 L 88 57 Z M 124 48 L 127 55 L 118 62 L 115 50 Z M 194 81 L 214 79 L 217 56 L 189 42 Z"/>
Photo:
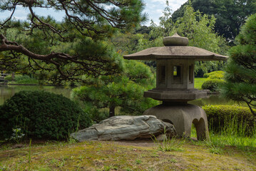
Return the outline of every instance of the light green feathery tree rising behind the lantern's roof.
<path id="1" fill-rule="evenodd" d="M 214 32 L 214 26 L 214 16 L 202 15 L 200 11 L 194 11 L 192 6 L 186 6 L 184 16 L 175 22 L 175 28 L 170 33 L 178 32 L 180 36 L 188 37 L 189 46 L 221 53 L 220 45 L 224 41 Z"/>

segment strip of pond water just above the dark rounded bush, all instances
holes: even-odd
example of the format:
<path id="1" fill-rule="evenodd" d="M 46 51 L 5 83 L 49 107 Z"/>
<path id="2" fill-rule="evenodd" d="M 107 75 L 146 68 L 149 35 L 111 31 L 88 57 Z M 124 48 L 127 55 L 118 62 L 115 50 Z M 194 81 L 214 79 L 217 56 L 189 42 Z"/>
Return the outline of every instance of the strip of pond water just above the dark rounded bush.
<path id="1" fill-rule="evenodd" d="M 5 100 L 11 98 L 14 93 L 21 90 L 45 90 L 51 93 L 62 94 L 67 98 L 70 98 L 71 94 L 71 88 L 57 86 L 0 86 L 0 105 L 2 105 Z"/>

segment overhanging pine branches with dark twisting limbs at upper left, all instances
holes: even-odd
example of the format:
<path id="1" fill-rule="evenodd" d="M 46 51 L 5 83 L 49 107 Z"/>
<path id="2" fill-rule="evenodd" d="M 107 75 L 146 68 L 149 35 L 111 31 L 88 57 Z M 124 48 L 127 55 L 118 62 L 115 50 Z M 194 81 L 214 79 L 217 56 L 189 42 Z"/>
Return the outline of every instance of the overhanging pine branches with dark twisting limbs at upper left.
<path id="1" fill-rule="evenodd" d="M 140 0 L 11 0 L 1 1 L 0 11 L 15 11 L 16 6 L 66 11 L 66 16 L 56 21 L 31 9 L 24 21 L 16 21 L 12 15 L 1 19 L 0 70 L 34 73 L 58 84 L 63 80 L 83 81 L 83 75 L 120 72 L 108 39 L 118 28 L 129 31 L 146 20 L 142 13 L 145 4 Z"/>

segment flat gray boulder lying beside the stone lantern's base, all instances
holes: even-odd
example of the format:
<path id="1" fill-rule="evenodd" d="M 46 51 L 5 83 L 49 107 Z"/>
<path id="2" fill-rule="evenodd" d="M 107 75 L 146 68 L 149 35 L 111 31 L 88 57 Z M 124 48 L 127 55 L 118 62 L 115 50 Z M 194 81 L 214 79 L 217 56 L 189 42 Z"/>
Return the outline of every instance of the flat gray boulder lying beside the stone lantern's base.
<path id="1" fill-rule="evenodd" d="M 134 140 L 136 138 L 157 137 L 165 132 L 168 137 L 176 135 L 174 126 L 158 120 L 153 115 L 120 115 L 72 133 L 71 137 L 82 142 L 85 140 Z"/>

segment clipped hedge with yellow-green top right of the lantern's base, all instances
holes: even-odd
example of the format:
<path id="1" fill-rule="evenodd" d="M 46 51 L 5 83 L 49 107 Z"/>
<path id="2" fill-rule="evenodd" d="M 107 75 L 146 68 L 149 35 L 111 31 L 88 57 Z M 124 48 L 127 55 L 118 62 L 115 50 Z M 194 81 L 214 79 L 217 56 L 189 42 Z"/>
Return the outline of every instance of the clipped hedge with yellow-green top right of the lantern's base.
<path id="1" fill-rule="evenodd" d="M 232 119 L 237 128 L 246 123 L 246 135 L 252 135 L 253 131 L 256 130 L 256 117 L 252 115 L 249 108 L 235 105 L 205 105 L 203 110 L 208 116 L 210 128 L 215 131 L 225 128 Z"/>

